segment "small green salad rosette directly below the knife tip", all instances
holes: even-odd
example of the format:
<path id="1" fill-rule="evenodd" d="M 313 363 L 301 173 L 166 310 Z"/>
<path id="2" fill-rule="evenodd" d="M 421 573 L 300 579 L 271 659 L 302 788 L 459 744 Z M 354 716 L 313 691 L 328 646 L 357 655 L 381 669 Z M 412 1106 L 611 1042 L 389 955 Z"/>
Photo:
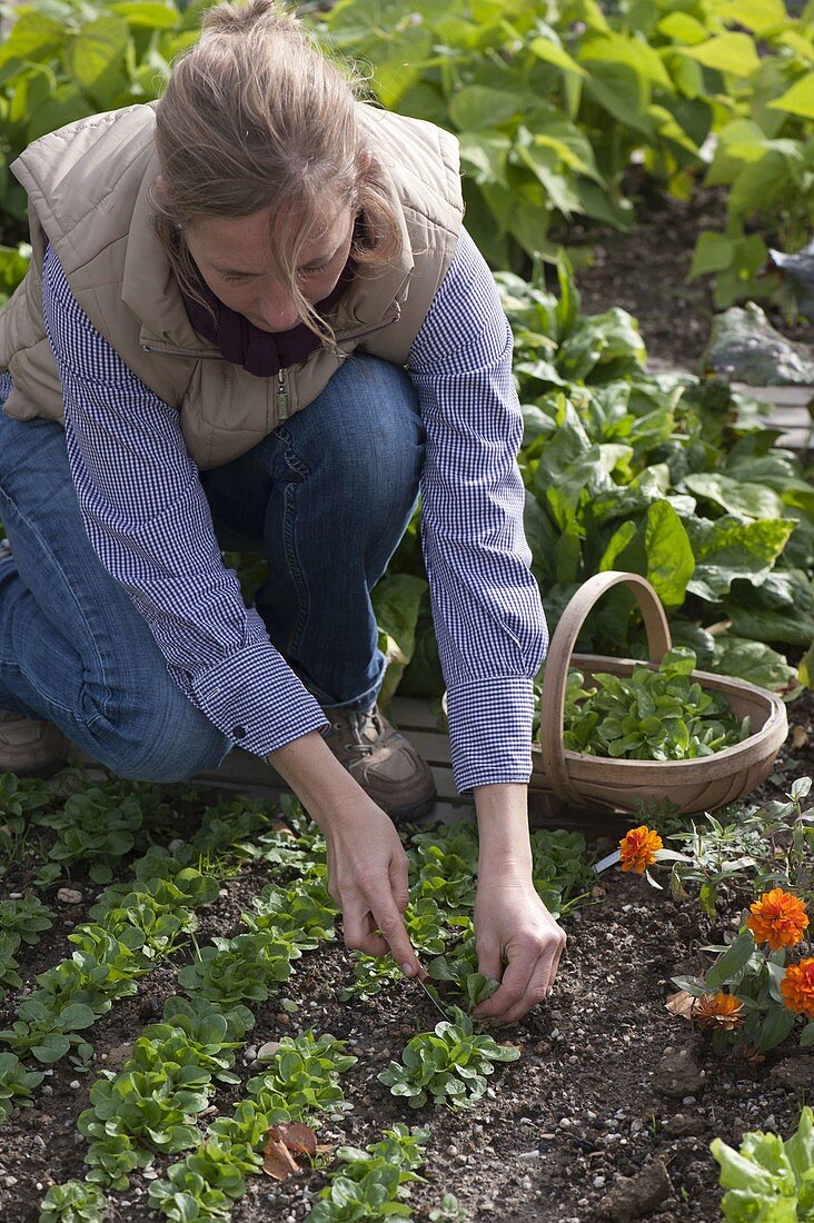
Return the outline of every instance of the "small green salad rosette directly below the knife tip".
<path id="1" fill-rule="evenodd" d="M 393 1096 L 404 1097 L 411 1108 L 433 1104 L 468 1108 L 486 1091 L 486 1076 L 496 1062 L 515 1062 L 520 1051 L 497 1044 L 491 1036 L 475 1036 L 472 1021 L 459 1007 L 454 1022 L 443 1020 L 435 1031 L 414 1036 L 401 1054 L 401 1064 L 390 1062 L 378 1081 Z"/>

